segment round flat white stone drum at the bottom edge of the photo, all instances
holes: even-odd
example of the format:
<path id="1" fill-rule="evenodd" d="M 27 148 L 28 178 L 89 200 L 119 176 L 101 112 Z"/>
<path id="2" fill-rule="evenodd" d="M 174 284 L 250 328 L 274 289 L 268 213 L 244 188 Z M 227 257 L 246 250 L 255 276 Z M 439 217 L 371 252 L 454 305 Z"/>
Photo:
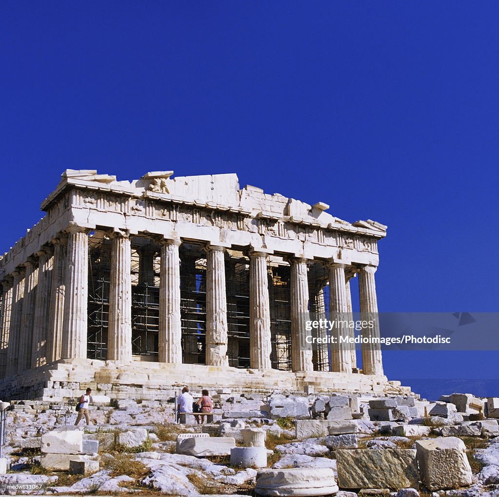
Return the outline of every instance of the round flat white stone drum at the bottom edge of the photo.
<path id="1" fill-rule="evenodd" d="M 336 494 L 334 471 L 329 468 L 263 470 L 256 474 L 260 496 L 325 496 Z"/>

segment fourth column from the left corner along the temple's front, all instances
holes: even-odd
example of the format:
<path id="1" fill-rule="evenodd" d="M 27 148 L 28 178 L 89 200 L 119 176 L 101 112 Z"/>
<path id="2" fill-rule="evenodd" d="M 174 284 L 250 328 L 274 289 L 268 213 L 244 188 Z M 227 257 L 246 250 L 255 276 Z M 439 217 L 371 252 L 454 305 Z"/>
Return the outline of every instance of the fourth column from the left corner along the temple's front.
<path id="1" fill-rule="evenodd" d="M 206 250 L 206 364 L 229 366 L 227 292 L 223 247 Z"/>

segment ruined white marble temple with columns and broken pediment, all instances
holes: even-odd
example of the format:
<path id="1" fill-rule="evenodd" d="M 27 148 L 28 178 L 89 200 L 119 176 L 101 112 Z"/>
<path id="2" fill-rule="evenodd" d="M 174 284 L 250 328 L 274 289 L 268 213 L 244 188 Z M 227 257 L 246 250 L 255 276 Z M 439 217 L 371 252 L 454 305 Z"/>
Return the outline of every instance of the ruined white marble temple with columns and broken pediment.
<path id="1" fill-rule="evenodd" d="M 300 346 L 307 310 L 352 312 L 353 276 L 360 311 L 377 311 L 385 226 L 240 189 L 235 174 L 172 175 L 62 174 L 0 260 L 1 398 L 398 391 L 379 350 L 362 349 L 360 370 L 351 350 Z"/>

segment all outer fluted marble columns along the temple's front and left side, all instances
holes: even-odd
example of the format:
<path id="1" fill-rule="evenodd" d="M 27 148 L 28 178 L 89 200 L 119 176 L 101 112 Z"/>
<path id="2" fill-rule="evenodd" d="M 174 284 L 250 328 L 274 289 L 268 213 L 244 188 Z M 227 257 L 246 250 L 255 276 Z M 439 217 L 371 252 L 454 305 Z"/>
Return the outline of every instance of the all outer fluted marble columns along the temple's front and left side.
<path id="1" fill-rule="evenodd" d="M 2 323 L 9 323 L 6 374 L 18 373 L 60 358 L 87 355 L 88 238 L 79 227 L 37 252 L 38 264 L 24 268 L 3 282 Z M 132 360 L 131 242 L 126 233 L 111 235 L 108 359 Z M 159 362 L 181 363 L 179 240 L 162 240 L 160 265 Z M 206 364 L 228 366 L 228 322 L 225 248 L 206 248 Z M 271 332 L 267 254 L 250 253 L 250 366 L 270 369 Z M 290 259 L 291 362 L 293 371 L 312 371 L 312 350 L 304 343 L 303 316 L 308 312 L 307 259 Z M 351 314 L 346 265 L 328 264 L 329 310 Z M 358 270 L 361 313 L 376 313 L 375 267 Z M 10 286 L 9 286 L 10 285 Z M 337 337 L 341 330 L 333 330 Z M 379 333 L 377 329 L 371 333 Z M 5 338 L 5 337 L 4 337 Z M 4 339 L 5 341 L 5 339 Z M 355 351 L 338 340 L 330 349 L 331 369 L 349 373 Z M 383 374 L 381 352 L 362 345 L 365 374 Z"/>

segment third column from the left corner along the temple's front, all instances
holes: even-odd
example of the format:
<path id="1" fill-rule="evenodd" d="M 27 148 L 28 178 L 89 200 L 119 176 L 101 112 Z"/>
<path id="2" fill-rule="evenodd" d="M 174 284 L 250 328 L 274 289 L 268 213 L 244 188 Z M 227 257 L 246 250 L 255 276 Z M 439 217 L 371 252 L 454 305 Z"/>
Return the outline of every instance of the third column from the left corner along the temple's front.
<path id="1" fill-rule="evenodd" d="M 182 363 L 180 320 L 180 240 L 161 242 L 159 279 L 159 362 Z"/>

